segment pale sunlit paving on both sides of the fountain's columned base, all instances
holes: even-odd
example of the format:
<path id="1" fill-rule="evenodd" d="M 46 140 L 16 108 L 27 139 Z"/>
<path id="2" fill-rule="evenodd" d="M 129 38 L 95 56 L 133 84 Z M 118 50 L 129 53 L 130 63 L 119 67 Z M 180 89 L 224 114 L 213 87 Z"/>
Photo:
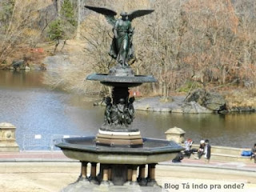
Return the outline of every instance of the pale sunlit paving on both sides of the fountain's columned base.
<path id="1" fill-rule="evenodd" d="M 80 162 L 66 158 L 62 151 L 22 151 L 20 153 L 0 153 L 0 191 L 2 192 L 57 192 L 75 182 L 80 174 Z M 88 166 L 90 169 L 90 166 Z M 90 170 L 88 170 L 90 173 Z M 212 185 L 232 183 L 243 185 L 242 190 L 225 192 L 256 191 L 256 164 L 244 162 L 220 162 L 183 159 L 181 163 L 161 162 L 156 169 L 158 184 L 172 183 L 179 190 L 191 192 L 222 192 L 210 190 Z M 208 190 L 182 189 L 182 183 L 205 185 Z M 114 192 L 115 190 L 111 190 Z M 124 190 L 125 191 L 125 190 Z M 134 190 L 134 192 L 137 190 Z"/>

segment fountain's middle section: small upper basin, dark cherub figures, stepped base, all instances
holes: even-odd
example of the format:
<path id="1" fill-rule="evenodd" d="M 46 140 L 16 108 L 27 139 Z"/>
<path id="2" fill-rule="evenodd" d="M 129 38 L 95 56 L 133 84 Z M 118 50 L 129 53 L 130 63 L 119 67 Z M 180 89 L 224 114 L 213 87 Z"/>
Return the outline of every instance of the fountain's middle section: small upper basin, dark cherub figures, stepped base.
<path id="1" fill-rule="evenodd" d="M 111 98 L 104 100 L 105 120 L 96 137 L 97 145 L 142 146 L 139 130 L 131 125 L 134 120 L 134 97 L 129 97 L 129 87 L 142 85 L 143 82 L 156 82 L 155 78 L 134 75 L 129 66 L 115 66 L 110 69 L 109 74 L 90 74 L 86 79 L 114 87 Z"/>

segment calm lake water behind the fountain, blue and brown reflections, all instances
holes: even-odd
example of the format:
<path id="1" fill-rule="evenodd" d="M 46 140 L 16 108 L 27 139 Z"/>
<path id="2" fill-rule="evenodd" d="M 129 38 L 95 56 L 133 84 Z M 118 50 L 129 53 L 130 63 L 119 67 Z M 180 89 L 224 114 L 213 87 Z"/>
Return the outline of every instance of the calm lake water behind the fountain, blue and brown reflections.
<path id="1" fill-rule="evenodd" d="M 82 96 L 50 90 L 42 85 L 43 72 L 0 70 L 0 122 L 17 127 L 22 146 L 24 135 L 81 135 L 98 133 L 104 107 L 93 106 Z M 165 138 L 178 126 L 186 138 L 212 145 L 251 147 L 256 142 L 256 114 L 169 114 L 136 111 L 134 126 L 142 137 Z"/>

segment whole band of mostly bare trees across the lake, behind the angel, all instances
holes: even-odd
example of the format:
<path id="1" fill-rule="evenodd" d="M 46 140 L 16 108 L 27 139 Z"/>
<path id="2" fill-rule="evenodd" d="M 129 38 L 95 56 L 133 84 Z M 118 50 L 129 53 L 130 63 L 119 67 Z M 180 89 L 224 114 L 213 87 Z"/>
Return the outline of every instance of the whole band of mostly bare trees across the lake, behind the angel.
<path id="1" fill-rule="evenodd" d="M 2 0 L 0 62 L 20 46 L 79 38 L 86 42 L 85 61 L 96 72 L 114 65 L 109 50 L 111 27 L 84 5 L 113 10 L 154 9 L 133 22 L 138 74 L 158 83 L 146 90 L 168 97 L 193 86 L 256 83 L 256 2 L 254 0 Z"/>

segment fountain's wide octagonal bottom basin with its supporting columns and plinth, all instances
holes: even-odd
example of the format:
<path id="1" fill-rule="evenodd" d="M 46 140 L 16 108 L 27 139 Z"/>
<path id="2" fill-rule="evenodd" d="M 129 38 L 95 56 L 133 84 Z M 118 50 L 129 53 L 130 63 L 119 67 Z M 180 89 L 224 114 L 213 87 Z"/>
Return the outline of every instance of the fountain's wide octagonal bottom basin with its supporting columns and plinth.
<path id="1" fill-rule="evenodd" d="M 155 165 L 173 159 L 183 150 L 175 142 L 153 138 L 142 138 L 143 145 L 137 147 L 102 146 L 96 141 L 95 137 L 57 141 L 55 146 L 61 148 L 66 157 L 82 162 L 78 181 L 63 192 L 160 191 L 154 176 Z M 88 163 L 91 165 L 90 176 L 87 174 Z"/>

